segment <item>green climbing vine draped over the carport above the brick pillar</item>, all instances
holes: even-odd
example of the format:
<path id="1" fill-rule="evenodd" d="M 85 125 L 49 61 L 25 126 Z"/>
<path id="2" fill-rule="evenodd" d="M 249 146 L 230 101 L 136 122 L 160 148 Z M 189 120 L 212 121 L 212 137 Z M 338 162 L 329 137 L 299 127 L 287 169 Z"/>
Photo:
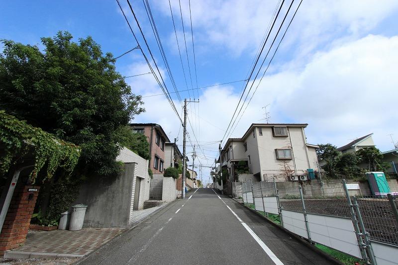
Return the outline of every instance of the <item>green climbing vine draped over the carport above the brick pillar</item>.
<path id="1" fill-rule="evenodd" d="M 46 179 L 53 177 L 58 167 L 72 173 L 80 157 L 78 146 L 56 138 L 0 110 L 0 173 L 4 174 L 16 162 L 17 156 L 32 152 L 35 162 L 30 174 L 34 183 L 37 174 L 47 163 Z"/>

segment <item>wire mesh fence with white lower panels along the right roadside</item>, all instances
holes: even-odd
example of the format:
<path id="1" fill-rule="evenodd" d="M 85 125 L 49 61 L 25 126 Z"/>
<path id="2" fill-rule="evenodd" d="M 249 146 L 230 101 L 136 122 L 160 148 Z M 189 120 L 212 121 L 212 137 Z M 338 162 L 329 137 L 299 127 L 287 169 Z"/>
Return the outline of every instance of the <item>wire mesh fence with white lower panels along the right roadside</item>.
<path id="1" fill-rule="evenodd" d="M 383 253 L 377 242 L 398 251 L 397 195 L 362 196 L 345 179 L 312 183 L 275 179 L 243 182 L 246 205 L 273 221 L 278 219 L 299 236 L 362 257 L 367 263 L 376 264 Z"/>

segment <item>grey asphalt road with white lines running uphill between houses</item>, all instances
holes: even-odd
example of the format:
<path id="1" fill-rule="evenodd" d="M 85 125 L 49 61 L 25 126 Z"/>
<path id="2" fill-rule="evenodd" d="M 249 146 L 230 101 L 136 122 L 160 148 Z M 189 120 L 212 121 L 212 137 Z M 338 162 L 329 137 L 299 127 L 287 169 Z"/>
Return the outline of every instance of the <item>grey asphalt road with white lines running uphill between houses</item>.
<path id="1" fill-rule="evenodd" d="M 199 188 L 80 264 L 333 264 L 227 196 Z"/>

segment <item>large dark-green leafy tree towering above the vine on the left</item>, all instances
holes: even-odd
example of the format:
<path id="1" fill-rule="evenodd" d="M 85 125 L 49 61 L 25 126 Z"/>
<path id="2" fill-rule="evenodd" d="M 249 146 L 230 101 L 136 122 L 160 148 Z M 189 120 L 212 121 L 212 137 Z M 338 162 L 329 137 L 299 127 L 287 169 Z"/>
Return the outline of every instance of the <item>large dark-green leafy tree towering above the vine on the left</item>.
<path id="1" fill-rule="evenodd" d="M 73 42 L 68 32 L 37 46 L 2 40 L 0 109 L 79 145 L 80 168 L 102 175 L 119 171 L 118 128 L 141 113 L 141 96 L 115 71 L 91 37 Z"/>

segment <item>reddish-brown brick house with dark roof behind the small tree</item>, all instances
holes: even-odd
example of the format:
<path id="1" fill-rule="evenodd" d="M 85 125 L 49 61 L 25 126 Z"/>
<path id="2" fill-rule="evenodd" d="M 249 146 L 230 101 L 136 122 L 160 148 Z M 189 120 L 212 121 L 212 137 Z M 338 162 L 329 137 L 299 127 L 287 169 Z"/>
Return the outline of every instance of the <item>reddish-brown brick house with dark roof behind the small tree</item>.
<path id="1" fill-rule="evenodd" d="M 131 123 L 131 129 L 136 133 L 142 133 L 149 143 L 149 168 L 153 174 L 163 174 L 165 168 L 165 145 L 170 142 L 162 126 L 156 123 Z"/>

